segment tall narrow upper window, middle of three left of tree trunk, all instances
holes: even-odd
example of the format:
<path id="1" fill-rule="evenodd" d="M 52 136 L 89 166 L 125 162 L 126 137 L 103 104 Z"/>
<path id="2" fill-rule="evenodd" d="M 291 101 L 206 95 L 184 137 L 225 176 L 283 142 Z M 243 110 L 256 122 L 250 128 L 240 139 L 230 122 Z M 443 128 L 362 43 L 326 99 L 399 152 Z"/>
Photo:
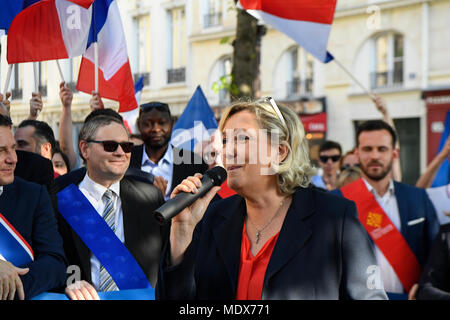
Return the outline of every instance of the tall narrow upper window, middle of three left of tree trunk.
<path id="1" fill-rule="evenodd" d="M 186 80 L 186 15 L 184 8 L 167 11 L 168 21 L 168 65 L 167 83 L 184 82 Z"/>

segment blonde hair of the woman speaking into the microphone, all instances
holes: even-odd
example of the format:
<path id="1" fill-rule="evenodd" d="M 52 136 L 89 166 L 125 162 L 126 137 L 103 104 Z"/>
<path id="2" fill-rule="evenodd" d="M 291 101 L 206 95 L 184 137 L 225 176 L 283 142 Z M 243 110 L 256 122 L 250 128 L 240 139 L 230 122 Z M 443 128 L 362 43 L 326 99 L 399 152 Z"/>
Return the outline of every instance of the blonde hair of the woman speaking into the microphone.
<path id="1" fill-rule="evenodd" d="M 276 167 L 278 185 L 285 194 L 294 193 L 297 187 L 306 188 L 313 175 L 313 168 L 309 160 L 309 147 L 305 130 L 299 117 L 290 108 L 278 105 L 281 115 L 286 122 L 282 123 L 279 116 L 269 102 L 239 100 L 231 104 L 222 114 L 219 123 L 220 132 L 226 121 L 234 114 L 249 111 L 254 114 L 261 129 L 278 132 L 279 143 L 288 147 L 288 155 Z"/>

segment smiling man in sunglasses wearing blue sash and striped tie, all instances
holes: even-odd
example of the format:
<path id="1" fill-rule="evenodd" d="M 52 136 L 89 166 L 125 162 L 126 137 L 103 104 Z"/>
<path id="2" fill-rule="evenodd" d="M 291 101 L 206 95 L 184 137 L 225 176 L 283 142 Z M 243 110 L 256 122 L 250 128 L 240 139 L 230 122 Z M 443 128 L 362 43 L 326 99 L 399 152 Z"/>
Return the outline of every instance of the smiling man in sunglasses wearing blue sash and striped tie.
<path id="1" fill-rule="evenodd" d="M 64 249 L 80 275 L 68 279 L 66 294 L 91 300 L 97 292 L 154 287 L 168 237 L 151 214 L 164 202 L 161 192 L 125 174 L 133 143 L 116 117 L 90 118 L 78 138 L 86 174 L 67 175 L 58 193 Z"/>

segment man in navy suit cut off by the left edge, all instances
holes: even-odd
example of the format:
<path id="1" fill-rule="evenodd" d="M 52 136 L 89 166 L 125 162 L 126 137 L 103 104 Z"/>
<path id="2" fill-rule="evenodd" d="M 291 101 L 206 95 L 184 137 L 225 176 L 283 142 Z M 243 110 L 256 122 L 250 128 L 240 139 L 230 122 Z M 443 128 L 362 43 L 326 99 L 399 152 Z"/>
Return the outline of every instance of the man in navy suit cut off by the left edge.
<path id="1" fill-rule="evenodd" d="M 62 286 L 66 261 L 47 191 L 14 176 L 17 156 L 11 125 L 0 115 L 0 213 L 31 248 L 34 260 L 15 266 L 12 259 L 0 258 L 0 300 L 23 300 Z M 0 244 L 0 255 L 1 250 Z"/>

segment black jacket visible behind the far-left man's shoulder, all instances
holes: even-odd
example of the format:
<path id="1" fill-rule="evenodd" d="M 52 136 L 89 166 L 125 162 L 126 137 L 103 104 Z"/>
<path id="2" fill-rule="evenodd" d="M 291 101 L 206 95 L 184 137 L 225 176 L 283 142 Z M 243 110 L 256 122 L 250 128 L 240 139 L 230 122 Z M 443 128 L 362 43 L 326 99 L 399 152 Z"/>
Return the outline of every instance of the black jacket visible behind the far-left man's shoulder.
<path id="1" fill-rule="evenodd" d="M 58 187 L 55 183 L 52 162 L 37 153 L 21 150 L 16 150 L 16 153 L 17 164 L 14 175 L 45 186 L 50 195 L 53 209 L 56 211 L 58 208 L 56 199 Z"/>

